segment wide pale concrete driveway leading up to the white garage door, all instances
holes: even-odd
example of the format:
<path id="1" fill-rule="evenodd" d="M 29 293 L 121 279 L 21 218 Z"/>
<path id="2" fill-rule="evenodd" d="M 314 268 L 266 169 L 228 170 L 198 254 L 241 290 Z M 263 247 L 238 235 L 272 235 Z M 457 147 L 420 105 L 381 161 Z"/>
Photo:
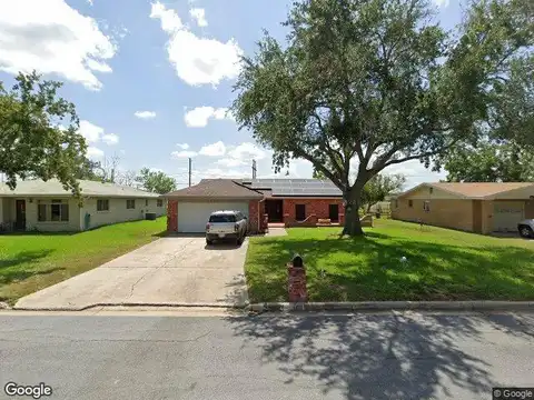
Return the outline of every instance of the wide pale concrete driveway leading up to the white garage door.
<path id="1" fill-rule="evenodd" d="M 168 237 L 99 268 L 21 298 L 16 309 L 93 306 L 245 306 L 248 239 L 206 246 L 204 237 Z M 80 249 L 80 251 L 83 251 Z"/>

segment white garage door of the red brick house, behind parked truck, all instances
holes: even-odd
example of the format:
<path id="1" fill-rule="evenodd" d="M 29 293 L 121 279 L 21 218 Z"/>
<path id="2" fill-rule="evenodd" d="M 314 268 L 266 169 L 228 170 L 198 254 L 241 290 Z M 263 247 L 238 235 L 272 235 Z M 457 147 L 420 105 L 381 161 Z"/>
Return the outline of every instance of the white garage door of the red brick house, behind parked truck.
<path id="1" fill-rule="evenodd" d="M 179 202 L 178 232 L 197 233 L 206 231 L 209 214 L 218 210 L 241 211 L 248 218 L 248 201 L 236 202 Z"/>

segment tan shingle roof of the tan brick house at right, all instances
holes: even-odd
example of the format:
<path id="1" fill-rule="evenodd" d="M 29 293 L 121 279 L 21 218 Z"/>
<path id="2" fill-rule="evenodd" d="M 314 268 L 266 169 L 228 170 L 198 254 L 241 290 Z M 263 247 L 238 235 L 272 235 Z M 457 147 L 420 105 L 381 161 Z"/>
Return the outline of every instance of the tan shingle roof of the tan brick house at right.
<path id="1" fill-rule="evenodd" d="M 404 197 L 408 193 L 412 193 L 423 186 L 442 189 L 449 193 L 467 199 L 481 199 L 528 187 L 534 189 L 534 182 L 435 182 L 422 183 L 399 194 L 398 197 Z"/>

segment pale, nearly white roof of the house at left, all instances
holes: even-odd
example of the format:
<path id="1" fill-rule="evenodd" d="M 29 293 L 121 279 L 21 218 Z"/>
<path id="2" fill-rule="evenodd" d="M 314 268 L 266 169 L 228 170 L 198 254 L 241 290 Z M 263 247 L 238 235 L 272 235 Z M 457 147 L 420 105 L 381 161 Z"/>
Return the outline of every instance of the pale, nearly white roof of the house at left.
<path id="1" fill-rule="evenodd" d="M 158 198 L 158 193 L 151 193 L 131 187 L 123 187 L 115 183 L 102 183 L 98 181 L 79 180 L 81 193 L 93 197 L 128 197 L 128 198 Z M 6 183 L 0 183 L 1 196 L 71 196 L 70 191 L 63 189 L 57 179 L 48 181 L 26 180 L 18 181 L 17 188 L 11 190 Z"/>

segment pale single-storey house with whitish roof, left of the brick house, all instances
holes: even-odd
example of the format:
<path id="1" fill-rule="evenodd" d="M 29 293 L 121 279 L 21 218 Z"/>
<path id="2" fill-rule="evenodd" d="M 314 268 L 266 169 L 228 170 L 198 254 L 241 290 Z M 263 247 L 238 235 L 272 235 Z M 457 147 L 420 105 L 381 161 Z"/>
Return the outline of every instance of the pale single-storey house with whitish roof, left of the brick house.
<path id="1" fill-rule="evenodd" d="M 82 207 L 56 179 L 18 181 L 14 190 L 0 183 L 0 230 L 75 232 L 166 212 L 158 193 L 96 181 L 79 183 Z"/>

